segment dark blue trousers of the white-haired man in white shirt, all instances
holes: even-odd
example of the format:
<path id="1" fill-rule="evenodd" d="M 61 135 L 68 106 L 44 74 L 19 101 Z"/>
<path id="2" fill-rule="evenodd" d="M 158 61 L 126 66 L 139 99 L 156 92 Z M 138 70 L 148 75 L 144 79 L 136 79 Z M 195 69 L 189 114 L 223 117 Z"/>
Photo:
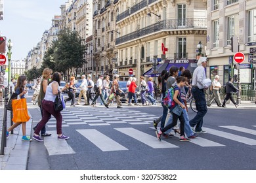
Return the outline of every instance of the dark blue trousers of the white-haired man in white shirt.
<path id="1" fill-rule="evenodd" d="M 189 124 L 191 127 L 196 125 L 196 131 L 202 131 L 203 116 L 207 113 L 205 94 L 203 93 L 203 89 L 195 86 L 193 86 L 191 92 L 196 100 L 196 110 L 198 110 L 198 113 L 190 120 Z"/>

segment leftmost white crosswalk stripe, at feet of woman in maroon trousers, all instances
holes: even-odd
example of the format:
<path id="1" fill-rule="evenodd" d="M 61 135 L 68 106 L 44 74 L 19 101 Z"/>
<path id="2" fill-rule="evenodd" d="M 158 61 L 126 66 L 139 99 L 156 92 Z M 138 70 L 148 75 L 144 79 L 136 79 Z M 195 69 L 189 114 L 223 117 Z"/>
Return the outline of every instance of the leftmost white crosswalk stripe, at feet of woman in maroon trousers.
<path id="1" fill-rule="evenodd" d="M 49 152 L 49 156 L 62 154 L 75 154 L 75 151 L 68 145 L 68 140 L 58 140 L 56 131 L 47 131 L 51 137 L 44 138 L 44 144 Z"/>

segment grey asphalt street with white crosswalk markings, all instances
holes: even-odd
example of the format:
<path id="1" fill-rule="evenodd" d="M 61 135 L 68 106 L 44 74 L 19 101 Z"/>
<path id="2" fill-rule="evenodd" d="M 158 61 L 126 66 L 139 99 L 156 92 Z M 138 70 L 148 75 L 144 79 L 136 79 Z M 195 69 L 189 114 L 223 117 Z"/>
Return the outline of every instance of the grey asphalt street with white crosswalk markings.
<path id="1" fill-rule="evenodd" d="M 47 133 L 52 136 L 31 142 L 28 169 L 256 168 L 255 109 L 208 108 L 203 125 L 208 133 L 190 142 L 180 142 L 178 135 L 160 142 L 152 124 L 161 115 L 160 105 L 69 106 L 62 111 L 62 131 L 70 139 L 57 139 L 51 118 Z M 28 108 L 34 126 L 41 119 L 39 107 L 29 103 Z M 189 109 L 190 118 L 195 114 Z"/>

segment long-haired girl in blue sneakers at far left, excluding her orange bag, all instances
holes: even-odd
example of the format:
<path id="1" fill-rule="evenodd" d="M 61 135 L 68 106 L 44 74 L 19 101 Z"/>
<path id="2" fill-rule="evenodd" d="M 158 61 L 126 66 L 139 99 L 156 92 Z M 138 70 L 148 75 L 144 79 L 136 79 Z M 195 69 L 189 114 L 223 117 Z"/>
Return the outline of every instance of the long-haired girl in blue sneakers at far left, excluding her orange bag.
<path id="1" fill-rule="evenodd" d="M 25 94 L 28 92 L 28 89 L 25 90 L 26 84 L 27 84 L 27 77 L 23 75 L 18 76 L 18 81 L 14 90 L 16 94 L 20 95 L 20 99 L 24 99 Z M 9 132 L 12 131 L 12 129 L 14 129 L 20 124 L 22 124 L 22 135 L 23 135 L 22 141 L 32 141 L 32 139 L 30 139 L 30 136 L 26 135 L 26 122 L 16 122 L 13 125 L 11 125 L 11 127 L 7 129 L 7 139 L 9 138 Z"/>

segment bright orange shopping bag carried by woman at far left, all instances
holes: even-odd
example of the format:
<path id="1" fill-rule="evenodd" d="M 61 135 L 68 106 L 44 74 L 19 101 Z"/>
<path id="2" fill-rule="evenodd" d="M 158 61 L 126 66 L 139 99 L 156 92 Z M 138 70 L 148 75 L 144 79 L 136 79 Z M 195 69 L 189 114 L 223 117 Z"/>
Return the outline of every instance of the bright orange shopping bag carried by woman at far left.
<path id="1" fill-rule="evenodd" d="M 12 100 L 13 122 L 28 122 L 28 108 L 26 99 L 13 99 Z"/>

